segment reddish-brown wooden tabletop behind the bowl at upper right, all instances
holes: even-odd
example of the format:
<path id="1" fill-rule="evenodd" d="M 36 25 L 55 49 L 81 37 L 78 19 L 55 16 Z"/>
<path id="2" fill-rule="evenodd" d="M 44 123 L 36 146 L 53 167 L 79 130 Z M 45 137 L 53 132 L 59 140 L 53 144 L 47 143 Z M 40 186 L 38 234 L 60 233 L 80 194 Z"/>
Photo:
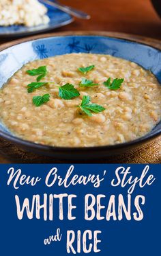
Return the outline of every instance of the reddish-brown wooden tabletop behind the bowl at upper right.
<path id="1" fill-rule="evenodd" d="M 161 38 L 161 19 L 153 9 L 150 0 L 60 1 L 91 14 L 91 20 L 76 19 L 74 23 L 59 31 L 104 30 Z"/>

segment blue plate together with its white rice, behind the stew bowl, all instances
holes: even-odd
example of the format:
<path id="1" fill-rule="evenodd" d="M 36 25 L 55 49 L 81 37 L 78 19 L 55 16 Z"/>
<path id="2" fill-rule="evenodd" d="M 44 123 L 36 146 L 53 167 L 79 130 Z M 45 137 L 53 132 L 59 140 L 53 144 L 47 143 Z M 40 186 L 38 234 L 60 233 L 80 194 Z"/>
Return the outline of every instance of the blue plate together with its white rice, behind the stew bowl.
<path id="1" fill-rule="evenodd" d="M 0 0 L 0 36 L 26 36 L 53 30 L 72 16 L 38 0 Z"/>

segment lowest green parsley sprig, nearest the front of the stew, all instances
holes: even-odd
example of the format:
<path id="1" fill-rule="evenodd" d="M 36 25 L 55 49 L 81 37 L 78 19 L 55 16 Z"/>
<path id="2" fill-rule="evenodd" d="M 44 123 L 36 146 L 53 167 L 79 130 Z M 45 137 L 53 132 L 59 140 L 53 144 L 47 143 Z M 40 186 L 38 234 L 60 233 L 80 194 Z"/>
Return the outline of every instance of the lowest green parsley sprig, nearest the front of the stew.
<path id="1" fill-rule="evenodd" d="M 86 115 L 89 115 L 89 117 L 92 116 L 92 112 L 99 113 L 106 109 L 103 106 L 100 106 L 98 104 L 90 103 L 90 101 L 91 101 L 91 98 L 89 96 L 83 96 L 81 105 L 78 106 L 79 108 L 81 108 L 81 110 L 83 110 L 83 112 L 85 112 Z"/>

